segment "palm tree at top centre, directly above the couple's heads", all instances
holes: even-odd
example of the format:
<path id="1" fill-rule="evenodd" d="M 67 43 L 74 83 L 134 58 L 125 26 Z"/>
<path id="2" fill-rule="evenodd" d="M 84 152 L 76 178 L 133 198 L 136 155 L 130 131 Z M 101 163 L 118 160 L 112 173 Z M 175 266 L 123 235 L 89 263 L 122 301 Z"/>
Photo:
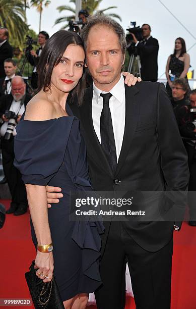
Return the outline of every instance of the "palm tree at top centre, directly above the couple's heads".
<path id="1" fill-rule="evenodd" d="M 82 9 L 83 10 L 87 10 L 89 12 L 89 14 L 95 14 L 97 12 L 101 12 L 101 13 L 105 13 L 105 11 L 110 10 L 110 9 L 117 9 L 117 7 L 108 7 L 106 9 L 103 10 L 98 10 L 98 7 L 100 5 L 102 0 L 82 0 Z M 76 0 L 70 0 L 70 3 L 73 3 L 76 5 Z M 58 10 L 59 13 L 61 13 L 62 11 L 69 11 L 72 12 L 73 14 L 71 16 L 63 16 L 63 17 L 59 17 L 56 19 L 54 25 L 57 25 L 61 22 L 69 22 L 70 20 L 75 20 L 76 17 L 76 10 L 74 8 L 72 8 L 71 6 L 59 6 L 56 8 Z M 113 18 L 117 18 L 121 21 L 121 18 L 119 15 L 114 14 L 114 13 L 109 13 L 106 14 L 110 17 Z M 69 26 L 69 24 L 64 24 L 61 29 L 65 29 Z"/>

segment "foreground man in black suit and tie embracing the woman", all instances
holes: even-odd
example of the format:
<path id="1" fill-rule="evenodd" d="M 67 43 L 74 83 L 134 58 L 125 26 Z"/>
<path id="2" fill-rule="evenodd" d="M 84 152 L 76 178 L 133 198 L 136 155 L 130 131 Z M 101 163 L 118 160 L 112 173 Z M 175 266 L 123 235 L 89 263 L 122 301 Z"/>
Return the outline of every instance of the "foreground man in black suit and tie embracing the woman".
<path id="1" fill-rule="evenodd" d="M 84 104 L 71 108 L 80 118 L 94 189 L 185 190 L 186 151 L 164 85 L 124 85 L 120 71 L 126 41 L 117 22 L 104 15 L 90 16 L 81 35 L 93 86 L 86 89 Z M 46 189 L 48 203 L 62 196 L 50 193 L 59 188 Z M 163 204 L 161 211 L 167 207 Z M 180 225 L 175 220 L 104 222 L 103 284 L 96 291 L 99 309 L 124 308 L 126 261 L 137 308 L 170 308 L 173 229 Z"/>

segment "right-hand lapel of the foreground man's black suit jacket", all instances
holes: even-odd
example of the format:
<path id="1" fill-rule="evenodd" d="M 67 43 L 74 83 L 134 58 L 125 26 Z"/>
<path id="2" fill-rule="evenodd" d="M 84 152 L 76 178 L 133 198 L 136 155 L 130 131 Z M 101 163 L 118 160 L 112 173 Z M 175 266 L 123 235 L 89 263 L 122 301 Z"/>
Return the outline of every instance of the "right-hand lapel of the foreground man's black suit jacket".
<path id="1" fill-rule="evenodd" d="M 128 87 L 125 85 L 125 126 L 116 175 L 124 164 L 127 152 L 135 134 L 139 114 L 139 104 L 137 104 L 135 95 L 138 92 L 139 90 L 136 86 Z"/>

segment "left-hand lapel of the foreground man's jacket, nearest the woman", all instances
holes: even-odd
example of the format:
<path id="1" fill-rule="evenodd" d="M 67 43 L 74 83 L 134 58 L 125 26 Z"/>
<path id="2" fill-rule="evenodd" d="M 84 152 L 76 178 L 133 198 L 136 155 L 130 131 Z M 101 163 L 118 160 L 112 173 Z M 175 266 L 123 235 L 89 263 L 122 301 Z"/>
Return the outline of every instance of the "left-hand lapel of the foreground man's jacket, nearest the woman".
<path id="1" fill-rule="evenodd" d="M 82 126 L 85 131 L 85 135 L 88 136 L 90 145 L 94 148 L 96 153 L 96 161 L 99 163 L 99 166 L 107 171 L 113 177 L 111 167 L 104 155 L 101 144 L 98 140 L 97 134 L 93 126 L 92 118 L 92 99 L 93 99 L 93 87 L 89 87 L 85 91 L 84 103 L 80 107 L 80 119 Z"/>

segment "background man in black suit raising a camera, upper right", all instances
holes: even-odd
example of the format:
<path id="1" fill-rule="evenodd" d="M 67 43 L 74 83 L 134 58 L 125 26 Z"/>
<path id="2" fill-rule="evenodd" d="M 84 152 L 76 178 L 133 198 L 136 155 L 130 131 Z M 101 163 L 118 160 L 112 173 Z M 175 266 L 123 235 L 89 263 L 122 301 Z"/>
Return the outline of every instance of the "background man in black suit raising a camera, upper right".
<path id="1" fill-rule="evenodd" d="M 158 64 L 157 57 L 159 51 L 158 40 L 151 36 L 151 27 L 148 24 L 142 25 L 143 40 L 138 41 L 134 33 L 133 36 L 137 53 L 141 60 L 142 80 L 157 81 Z"/>

